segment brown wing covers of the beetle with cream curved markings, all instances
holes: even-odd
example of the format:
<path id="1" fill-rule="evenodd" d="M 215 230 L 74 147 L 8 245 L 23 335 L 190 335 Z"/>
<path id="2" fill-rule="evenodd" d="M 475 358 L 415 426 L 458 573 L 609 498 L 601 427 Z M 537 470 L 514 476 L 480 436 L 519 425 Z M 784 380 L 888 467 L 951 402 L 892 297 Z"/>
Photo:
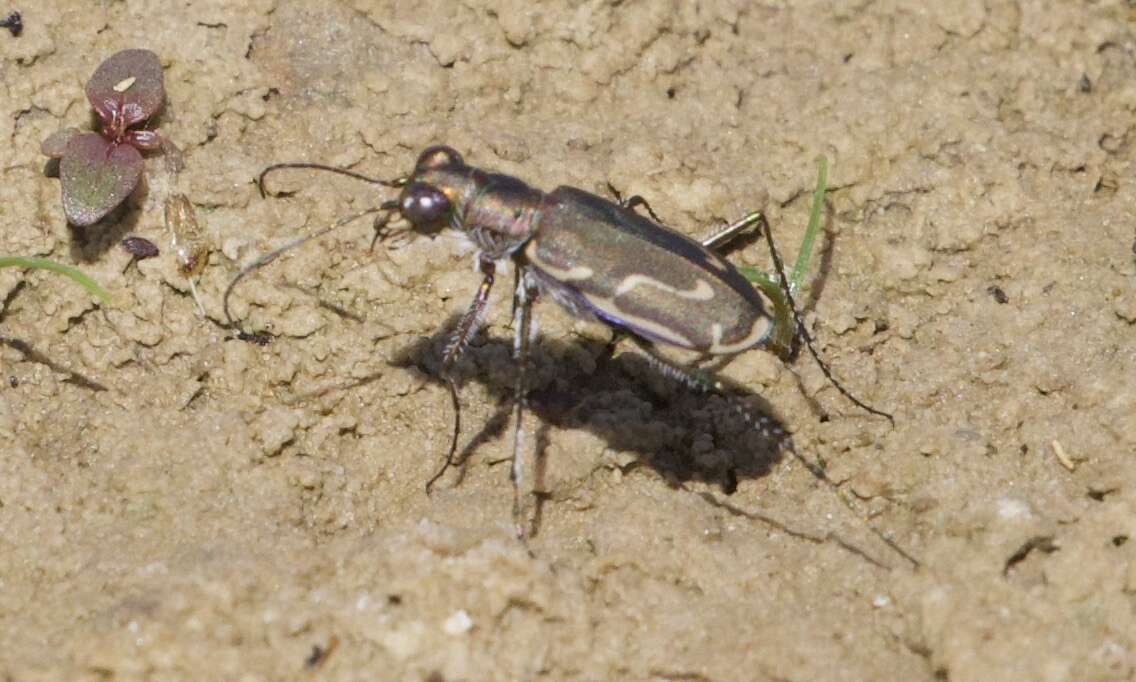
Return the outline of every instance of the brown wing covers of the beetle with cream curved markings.
<path id="1" fill-rule="evenodd" d="M 768 336 L 761 294 L 702 244 L 621 206 L 557 188 L 541 208 L 528 264 L 604 322 L 708 354 L 733 354 Z"/>

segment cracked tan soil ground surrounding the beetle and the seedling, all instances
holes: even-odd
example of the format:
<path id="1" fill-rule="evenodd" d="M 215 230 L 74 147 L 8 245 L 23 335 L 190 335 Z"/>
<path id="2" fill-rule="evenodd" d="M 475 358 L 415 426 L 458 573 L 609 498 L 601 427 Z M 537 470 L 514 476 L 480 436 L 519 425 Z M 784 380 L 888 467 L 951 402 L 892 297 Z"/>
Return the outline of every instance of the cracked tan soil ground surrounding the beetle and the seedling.
<path id="1" fill-rule="evenodd" d="M 414 6 L 40 0 L 0 34 L 0 253 L 115 297 L 0 272 L 0 333 L 57 365 L 0 349 L 0 679 L 1133 679 L 1128 3 Z M 83 84 L 128 47 L 161 56 L 157 125 L 186 167 L 151 156 L 75 234 L 39 144 L 90 125 Z M 807 357 L 724 375 L 855 513 L 545 301 L 526 551 L 508 273 L 462 361 L 468 464 L 427 497 L 445 325 L 478 282 L 452 238 L 368 252 L 361 222 L 309 243 L 234 298 L 277 339 L 229 339 L 242 264 L 386 196 L 294 173 L 261 199 L 265 165 L 394 177 L 442 141 L 544 189 L 610 182 L 692 235 L 763 206 L 787 253 L 827 155 L 810 324 L 895 425 Z M 214 249 L 208 318 L 162 225 L 174 190 Z M 125 234 L 162 256 L 131 265 Z M 760 241 L 730 258 L 769 263 Z"/>

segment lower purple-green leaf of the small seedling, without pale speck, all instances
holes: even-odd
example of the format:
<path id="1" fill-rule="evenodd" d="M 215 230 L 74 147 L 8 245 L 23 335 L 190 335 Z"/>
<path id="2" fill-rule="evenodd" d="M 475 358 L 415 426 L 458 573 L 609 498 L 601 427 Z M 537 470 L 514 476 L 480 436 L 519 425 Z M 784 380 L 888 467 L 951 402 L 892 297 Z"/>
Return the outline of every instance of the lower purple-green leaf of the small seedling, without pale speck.
<path id="1" fill-rule="evenodd" d="M 142 155 L 98 133 L 75 135 L 59 161 L 64 214 L 74 225 L 91 225 L 123 202 L 142 175 Z"/>

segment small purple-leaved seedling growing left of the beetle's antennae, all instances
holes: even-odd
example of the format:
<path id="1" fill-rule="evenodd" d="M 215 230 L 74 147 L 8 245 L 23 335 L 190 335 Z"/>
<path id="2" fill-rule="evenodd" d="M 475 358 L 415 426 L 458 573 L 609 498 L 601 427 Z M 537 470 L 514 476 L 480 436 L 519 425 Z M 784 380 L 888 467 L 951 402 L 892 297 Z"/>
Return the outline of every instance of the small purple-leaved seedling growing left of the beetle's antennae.
<path id="1" fill-rule="evenodd" d="M 142 175 L 141 150 L 177 150 L 157 131 L 134 127 L 166 99 L 161 63 L 150 50 L 123 50 L 99 65 L 86 99 L 102 125 L 97 133 L 64 128 L 40 147 L 59 159 L 64 214 L 73 225 L 92 225 L 126 200 Z"/>

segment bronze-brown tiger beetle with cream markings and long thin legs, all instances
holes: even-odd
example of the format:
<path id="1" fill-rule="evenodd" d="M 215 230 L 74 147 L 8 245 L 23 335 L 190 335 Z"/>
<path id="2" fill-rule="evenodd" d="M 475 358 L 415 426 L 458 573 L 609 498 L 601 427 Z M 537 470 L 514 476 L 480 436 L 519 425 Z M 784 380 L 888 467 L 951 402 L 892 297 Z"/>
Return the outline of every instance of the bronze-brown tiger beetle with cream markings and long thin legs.
<path id="1" fill-rule="evenodd" d="M 524 538 L 521 476 L 525 448 L 521 424 L 527 407 L 529 346 L 535 332 L 532 306 L 540 296 L 557 301 L 575 317 L 602 322 L 630 336 L 648 354 L 652 364 L 667 375 L 700 390 L 721 390 L 724 386 L 700 371 L 679 367 L 663 359 L 655 347 L 677 347 L 701 356 L 733 356 L 765 346 L 787 357 L 793 352 L 793 343 L 801 339 L 825 376 L 845 397 L 869 413 L 891 419 L 891 415 L 857 399 L 833 377 L 815 350 L 793 301 L 793 290 L 803 276 L 820 222 L 824 157 L 818 158 L 818 191 L 792 280 L 784 274 L 760 211 L 750 213 L 699 242 L 662 226 L 658 219 L 651 221 L 636 213 L 636 206 L 646 205 L 640 197 L 627 201 L 617 197 L 617 201 L 609 201 L 570 186 L 543 192 L 516 177 L 469 166 L 461 155 L 449 147 L 427 148 L 418 157 L 414 173 L 392 181 L 320 164 L 275 164 L 265 168 L 257 180 L 261 196 L 265 196 L 265 177 L 286 168 L 329 170 L 398 189 L 400 193 L 396 199 L 389 199 L 377 208 L 294 240 L 245 266 L 225 291 L 225 315 L 239 338 L 264 341 L 260 334 L 244 332 L 229 314 L 228 297 L 237 282 L 284 251 L 365 215 L 376 214 L 376 241 L 415 233 L 433 234 L 443 228 L 454 230 L 468 238 L 477 249 L 482 283 L 445 347 L 441 374 L 449 385 L 453 405 L 453 435 L 444 464 L 426 484 L 428 492 L 431 485 L 453 465 L 458 447 L 461 417 L 454 366 L 482 326 L 498 267 L 502 261 L 511 260 L 516 273 L 513 360 L 517 374 L 510 479 L 513 522 L 518 537 Z M 650 206 L 645 207 L 653 217 Z M 402 221 L 392 223 L 395 217 Z M 754 227 L 765 227 L 777 278 L 754 269 L 745 269 L 743 274 L 717 252 L 730 240 Z M 754 418 L 744 408 L 738 408 L 738 411 L 751 424 L 760 422 L 759 429 L 766 436 L 787 440 L 787 435 L 770 418 Z M 815 475 L 821 476 L 835 490 L 835 484 L 822 471 L 818 473 L 816 466 L 807 464 L 810 464 Z M 843 497 L 842 500 L 850 505 Z M 876 531 L 876 534 L 879 535 L 879 532 Z"/>

